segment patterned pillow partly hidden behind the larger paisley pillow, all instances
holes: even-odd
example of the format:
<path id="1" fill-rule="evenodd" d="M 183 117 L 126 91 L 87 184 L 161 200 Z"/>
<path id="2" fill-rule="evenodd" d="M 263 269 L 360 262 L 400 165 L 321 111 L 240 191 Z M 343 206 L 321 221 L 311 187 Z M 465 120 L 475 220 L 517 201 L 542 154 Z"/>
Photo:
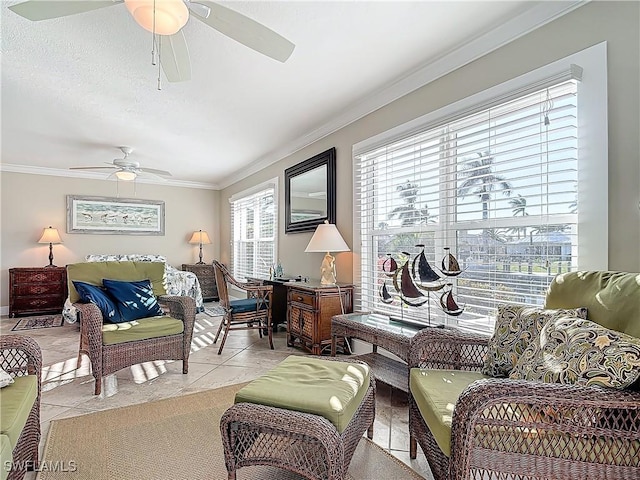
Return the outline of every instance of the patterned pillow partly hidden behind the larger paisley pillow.
<path id="1" fill-rule="evenodd" d="M 542 326 L 547 321 L 562 316 L 587 318 L 587 309 L 545 310 L 500 305 L 482 373 L 491 377 L 508 377 L 527 346 L 540 336 Z"/>

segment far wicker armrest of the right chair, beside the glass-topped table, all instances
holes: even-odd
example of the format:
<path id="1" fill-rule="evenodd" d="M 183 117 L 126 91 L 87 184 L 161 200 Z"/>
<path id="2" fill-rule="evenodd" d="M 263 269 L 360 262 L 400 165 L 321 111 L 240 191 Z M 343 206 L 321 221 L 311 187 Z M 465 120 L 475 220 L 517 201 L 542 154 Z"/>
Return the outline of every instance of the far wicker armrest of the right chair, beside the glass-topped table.
<path id="1" fill-rule="evenodd" d="M 409 347 L 409 368 L 480 370 L 489 337 L 455 328 L 424 328 Z"/>

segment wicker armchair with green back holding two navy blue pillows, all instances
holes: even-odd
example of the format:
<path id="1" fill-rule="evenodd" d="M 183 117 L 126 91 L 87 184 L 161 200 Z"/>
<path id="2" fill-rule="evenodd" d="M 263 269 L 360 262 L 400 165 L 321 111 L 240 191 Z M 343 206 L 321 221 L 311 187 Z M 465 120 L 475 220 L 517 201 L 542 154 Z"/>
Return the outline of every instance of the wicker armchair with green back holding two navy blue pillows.
<path id="1" fill-rule="evenodd" d="M 75 298 L 72 298 L 76 302 L 78 294 L 73 286 L 73 280 L 93 281 L 93 283 L 99 284 L 104 268 L 108 269 L 109 278 L 117 280 L 153 279 L 156 275 L 159 280 L 154 282 L 154 293 L 156 289 L 164 292 L 162 286 L 164 266 L 162 264 L 155 262 L 78 263 L 67 266 L 70 295 L 75 295 Z M 140 278 L 131 278 L 131 271 L 140 275 Z M 168 315 L 182 321 L 181 333 L 105 344 L 102 330 L 104 318 L 100 309 L 93 303 L 73 304 L 78 311 L 80 321 L 78 365 L 80 365 L 82 354 L 86 354 L 91 361 L 91 370 L 95 378 L 95 395 L 100 395 L 102 391 L 103 377 L 137 363 L 154 360 L 182 360 L 182 373 L 188 373 L 191 339 L 196 318 L 195 301 L 192 297 L 186 296 L 169 296 L 157 293 L 156 295 L 158 302 L 165 310 L 169 311 Z"/>

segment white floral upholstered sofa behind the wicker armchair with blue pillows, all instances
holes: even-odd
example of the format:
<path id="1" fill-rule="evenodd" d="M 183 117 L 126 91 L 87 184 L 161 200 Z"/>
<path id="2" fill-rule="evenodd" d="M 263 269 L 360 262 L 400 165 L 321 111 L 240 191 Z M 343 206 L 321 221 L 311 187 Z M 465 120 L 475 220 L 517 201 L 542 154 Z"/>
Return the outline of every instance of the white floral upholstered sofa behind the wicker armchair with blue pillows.
<path id="1" fill-rule="evenodd" d="M 202 289 L 198 277 L 193 272 L 185 272 L 169 265 L 162 255 L 87 255 L 85 262 L 159 262 L 164 265 L 164 287 L 167 295 L 193 297 L 198 312 L 204 311 Z M 78 312 L 73 303 L 67 298 L 62 312 L 68 323 L 75 323 Z"/>

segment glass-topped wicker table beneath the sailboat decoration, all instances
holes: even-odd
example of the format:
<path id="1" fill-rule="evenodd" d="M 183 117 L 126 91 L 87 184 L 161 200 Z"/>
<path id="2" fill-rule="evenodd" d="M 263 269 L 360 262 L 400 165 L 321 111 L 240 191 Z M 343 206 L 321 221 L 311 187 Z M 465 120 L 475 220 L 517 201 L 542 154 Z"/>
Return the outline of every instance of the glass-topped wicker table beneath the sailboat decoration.
<path id="1" fill-rule="evenodd" d="M 420 327 L 391 320 L 374 313 L 349 313 L 331 318 L 331 356 L 336 356 L 338 338 L 357 338 L 373 345 L 371 353 L 358 355 L 369 364 L 377 380 L 409 391 L 409 344 Z M 378 347 L 399 357 L 402 362 L 378 353 Z"/>

